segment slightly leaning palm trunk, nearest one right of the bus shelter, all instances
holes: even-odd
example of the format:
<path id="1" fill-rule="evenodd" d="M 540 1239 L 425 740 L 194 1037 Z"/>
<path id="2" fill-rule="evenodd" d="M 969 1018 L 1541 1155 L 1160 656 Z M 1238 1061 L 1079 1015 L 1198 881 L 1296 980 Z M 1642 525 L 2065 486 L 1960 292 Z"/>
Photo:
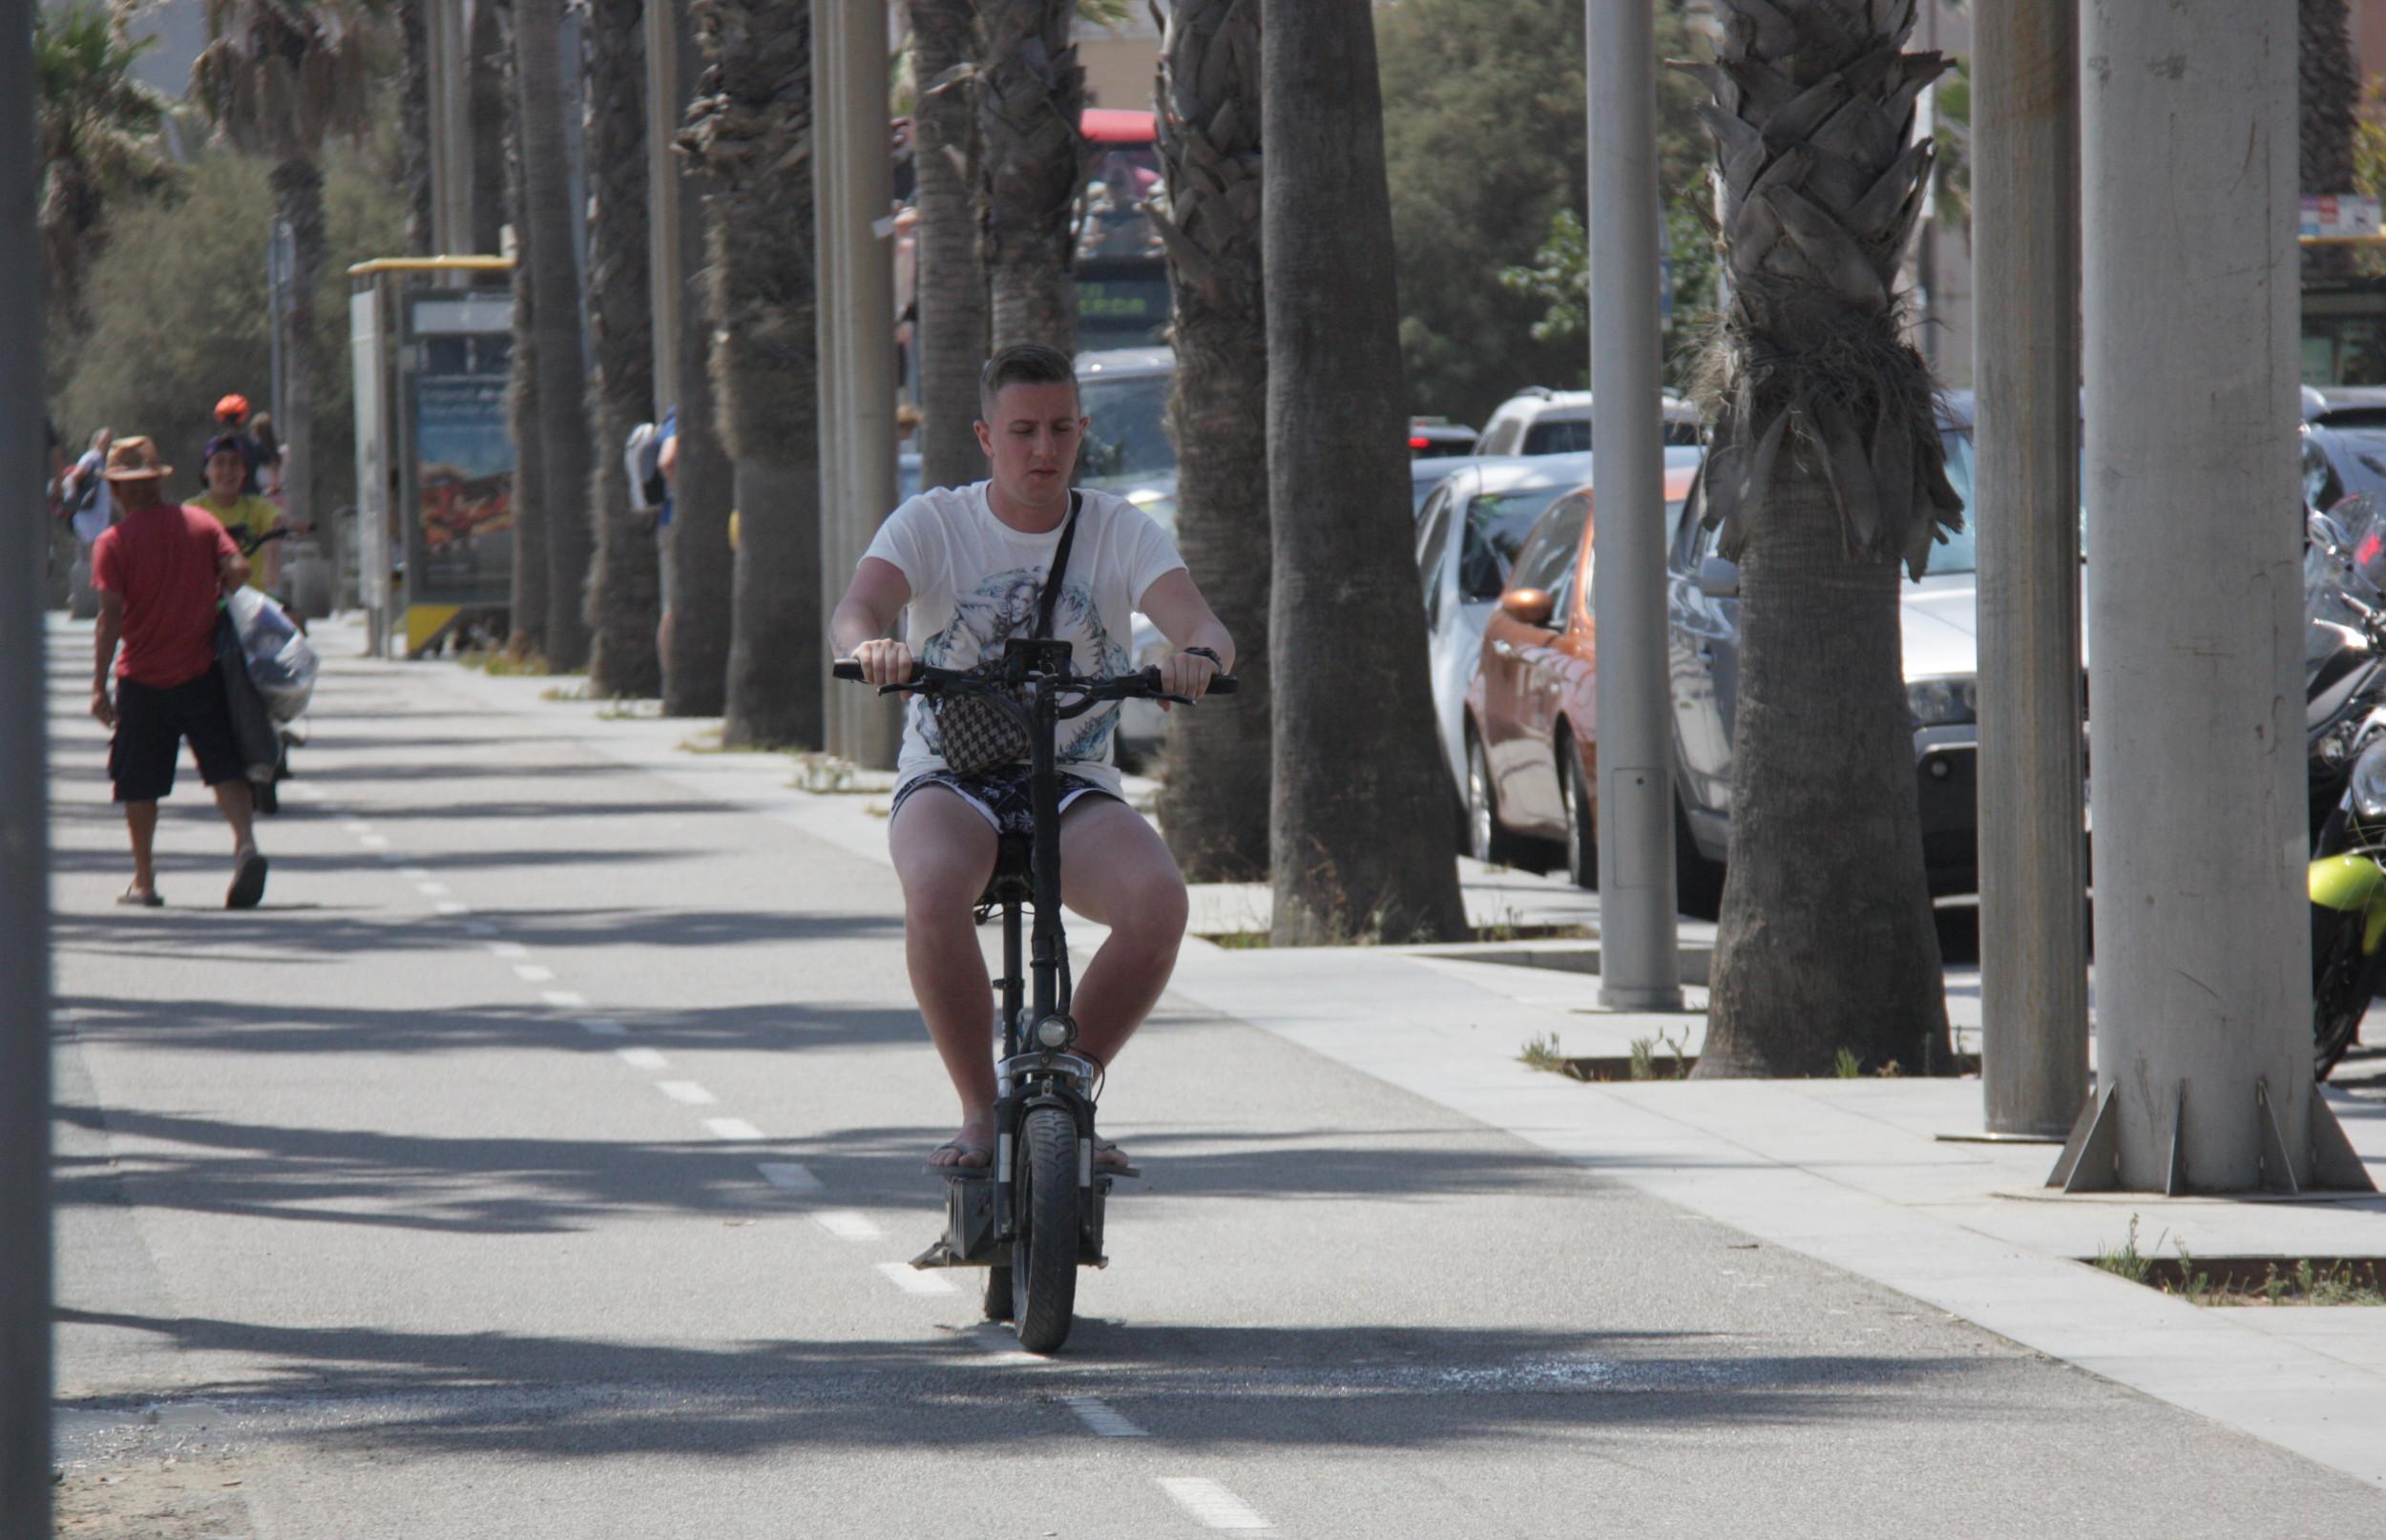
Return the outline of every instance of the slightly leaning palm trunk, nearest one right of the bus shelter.
<path id="1" fill-rule="evenodd" d="M 515 93 L 523 122 L 523 229 L 537 296 L 539 458 L 546 472 L 546 665 L 587 667 L 582 608 L 594 529 L 582 498 L 592 470 L 587 360 L 580 350 L 580 272 L 563 143 L 563 2 L 513 0 Z M 534 560 L 534 555 L 532 555 Z"/>

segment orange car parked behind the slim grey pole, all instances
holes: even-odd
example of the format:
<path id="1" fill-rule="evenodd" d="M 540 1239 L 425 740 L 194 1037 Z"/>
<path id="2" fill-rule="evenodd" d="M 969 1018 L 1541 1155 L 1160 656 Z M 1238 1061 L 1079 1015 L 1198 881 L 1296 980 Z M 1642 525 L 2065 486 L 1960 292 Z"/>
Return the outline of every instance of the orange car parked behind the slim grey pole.
<path id="1" fill-rule="evenodd" d="M 1665 470 L 1665 527 L 1692 467 Z M 1560 844 L 1582 887 L 1599 882 L 1599 620 L 1591 615 L 1591 489 L 1560 496 L 1517 546 L 1467 687 L 1467 844 L 1517 863 Z M 1651 575 L 1649 582 L 1663 582 Z"/>

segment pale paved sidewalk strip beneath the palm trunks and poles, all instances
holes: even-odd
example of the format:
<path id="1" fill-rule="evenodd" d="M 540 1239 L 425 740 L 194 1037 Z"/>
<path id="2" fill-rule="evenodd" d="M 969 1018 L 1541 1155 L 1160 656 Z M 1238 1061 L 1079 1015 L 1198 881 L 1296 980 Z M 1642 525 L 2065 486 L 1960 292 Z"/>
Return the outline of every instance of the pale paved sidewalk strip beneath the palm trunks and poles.
<path id="1" fill-rule="evenodd" d="M 344 648 L 336 632 L 322 639 Z M 420 665 L 444 667 L 444 665 Z M 585 744 L 675 787 L 780 818 L 885 861 L 885 794 L 811 794 L 778 753 L 690 753 L 713 722 L 606 715 L 546 701 L 556 679 L 449 670 L 456 689 L 527 729 Z M 568 684 L 568 682 L 565 682 Z M 301 758 L 303 763 L 303 758 Z M 1587 925 L 1596 896 L 1463 863 L 1482 925 Z M 1250 930 L 1265 892 L 1195 894 L 1195 930 Z M 1071 923 L 1088 934 L 1093 927 Z M 1711 927 L 1685 923 L 1685 944 Z M 1188 939 L 1172 992 L 1513 1132 L 1603 1180 L 1904 1292 L 2047 1356 L 2386 1485 L 2386 1309 L 2202 1309 L 2083 1266 L 2119 1247 L 2176 1256 L 2386 1256 L 2386 1197 L 2062 1197 L 2052 1147 L 1945 1142 L 1980 1130 L 1978 1080 L 1608 1082 L 1529 1070 L 1517 1054 L 1625 1054 L 1670 1035 L 1696 1051 L 1704 992 L 1682 1016 L 1596 1011 L 1596 977 L 1429 956 L 1448 949 L 1222 949 Z M 1959 1047 L 1976 1047 L 1976 977 L 1949 973 Z M 1661 1054 L 1665 1049 L 1658 1049 Z M 2329 1101 L 2386 1185 L 2386 1073 L 2348 1066 Z M 1599 1244 L 1596 1237 L 1553 1237 Z"/>

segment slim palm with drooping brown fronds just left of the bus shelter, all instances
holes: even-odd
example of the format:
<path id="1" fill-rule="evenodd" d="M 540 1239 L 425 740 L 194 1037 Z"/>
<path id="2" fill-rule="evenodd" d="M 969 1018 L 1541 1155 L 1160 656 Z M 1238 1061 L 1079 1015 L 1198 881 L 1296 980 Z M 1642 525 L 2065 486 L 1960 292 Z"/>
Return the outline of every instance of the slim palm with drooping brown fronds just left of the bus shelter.
<path id="1" fill-rule="evenodd" d="M 313 524 L 315 455 L 315 279 L 324 257 L 322 148 L 370 126 L 377 36 L 363 0 L 210 0 L 210 43 L 191 64 L 191 95 L 239 148 L 274 162 L 274 212 L 291 229 L 291 291 L 284 310 L 282 441 L 298 477 L 291 524 Z"/>

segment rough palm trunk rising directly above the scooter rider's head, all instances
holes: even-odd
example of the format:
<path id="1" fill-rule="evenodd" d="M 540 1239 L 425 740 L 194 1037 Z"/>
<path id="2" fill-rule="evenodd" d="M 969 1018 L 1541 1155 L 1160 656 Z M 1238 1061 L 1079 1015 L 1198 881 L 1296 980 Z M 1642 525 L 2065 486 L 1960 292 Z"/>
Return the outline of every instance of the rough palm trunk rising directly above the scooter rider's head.
<path id="1" fill-rule="evenodd" d="M 978 219 L 993 343 L 1076 350 L 1069 224 L 1086 181 L 1074 0 L 978 7 Z"/>

